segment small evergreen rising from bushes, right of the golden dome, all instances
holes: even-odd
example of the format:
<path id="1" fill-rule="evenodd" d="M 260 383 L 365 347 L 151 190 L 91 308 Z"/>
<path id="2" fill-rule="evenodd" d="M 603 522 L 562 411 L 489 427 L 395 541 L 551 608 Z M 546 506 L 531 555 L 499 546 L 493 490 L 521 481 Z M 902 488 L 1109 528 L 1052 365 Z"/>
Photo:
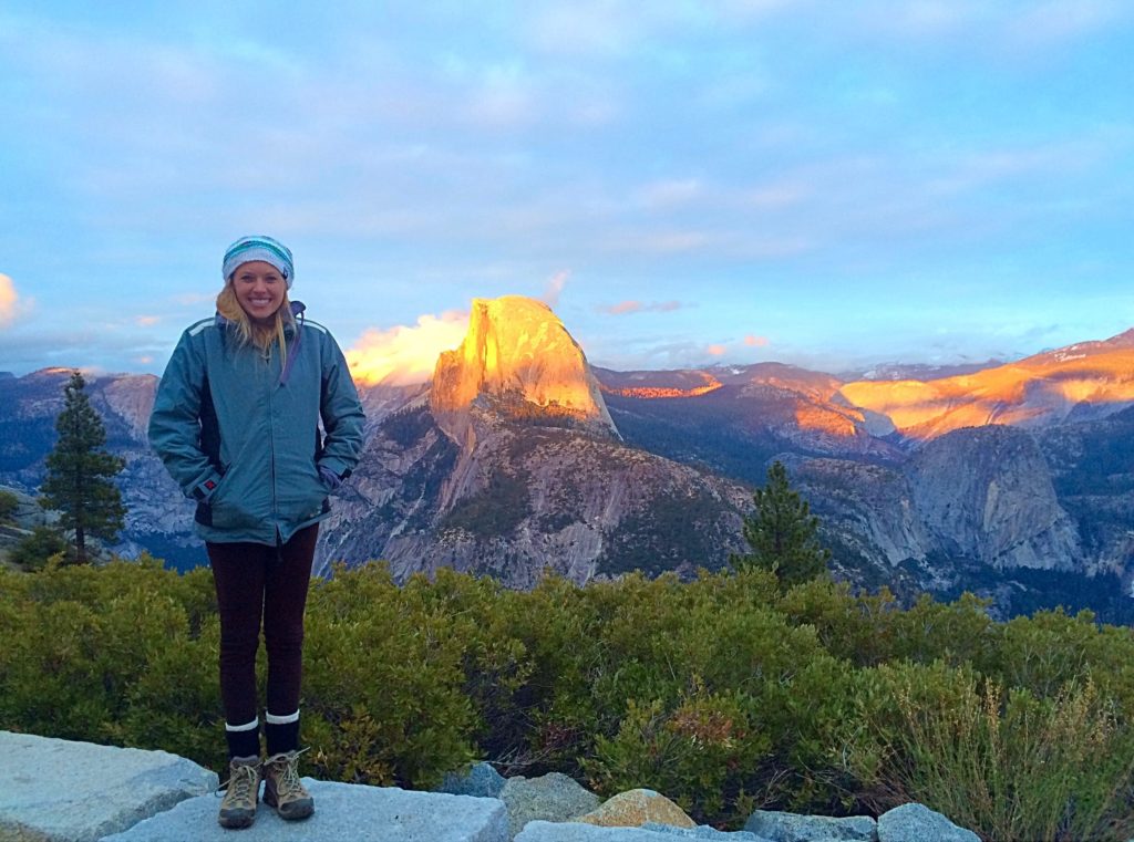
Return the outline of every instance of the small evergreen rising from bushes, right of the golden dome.
<path id="1" fill-rule="evenodd" d="M 823 576 L 831 553 L 819 543 L 819 518 L 792 490 L 782 463 L 772 463 L 768 485 L 752 497 L 756 509 L 744 519 L 744 538 L 752 552 L 733 554 L 729 563 L 736 570 L 770 570 L 785 588 Z"/>

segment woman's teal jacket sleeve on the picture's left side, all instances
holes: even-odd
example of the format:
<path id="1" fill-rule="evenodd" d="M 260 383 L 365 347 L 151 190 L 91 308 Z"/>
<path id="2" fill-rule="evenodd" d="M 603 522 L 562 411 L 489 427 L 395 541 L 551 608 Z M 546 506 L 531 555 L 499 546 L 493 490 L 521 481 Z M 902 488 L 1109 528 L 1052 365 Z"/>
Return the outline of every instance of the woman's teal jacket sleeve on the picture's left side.
<path id="1" fill-rule="evenodd" d="M 150 415 L 150 446 L 185 495 L 201 501 L 208 500 L 220 482 L 220 474 L 201 450 L 204 382 L 203 356 L 186 331 L 158 384 Z"/>

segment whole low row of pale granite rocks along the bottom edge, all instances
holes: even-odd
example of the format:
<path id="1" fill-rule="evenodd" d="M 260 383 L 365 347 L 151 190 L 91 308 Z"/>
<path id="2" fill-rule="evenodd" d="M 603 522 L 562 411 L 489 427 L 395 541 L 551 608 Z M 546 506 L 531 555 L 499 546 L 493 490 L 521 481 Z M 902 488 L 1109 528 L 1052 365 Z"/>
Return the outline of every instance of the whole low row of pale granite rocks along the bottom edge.
<path id="1" fill-rule="evenodd" d="M 458 775 L 465 780 L 485 776 Z M 488 775 L 488 779 L 491 779 Z M 723 832 L 692 823 L 674 808 L 678 823 L 644 822 L 624 815 L 621 826 L 575 819 L 598 798 L 566 775 L 510 779 L 501 799 L 415 792 L 397 788 L 329 783 L 304 779 L 315 814 L 284 822 L 264 805 L 255 823 L 240 831 L 248 842 L 975 842 L 976 836 L 921 805 L 904 805 L 869 817 L 828 818 L 761 813 L 752 831 Z M 491 784 L 494 786 L 494 784 Z M 164 751 L 142 751 L 0 731 L 0 839 L 12 842 L 225 842 L 217 824 L 217 775 Z M 636 803 L 631 791 L 608 805 Z M 662 798 L 650 793 L 653 800 Z M 533 815 L 543 818 L 532 818 Z M 548 817 L 553 820 L 547 820 Z M 615 811 L 606 814 L 608 819 Z M 636 826 L 636 825 L 641 826 Z M 877 827 L 877 832 L 875 832 Z M 827 835 L 822 835 L 822 834 Z M 865 834 L 865 835 L 863 835 Z"/>

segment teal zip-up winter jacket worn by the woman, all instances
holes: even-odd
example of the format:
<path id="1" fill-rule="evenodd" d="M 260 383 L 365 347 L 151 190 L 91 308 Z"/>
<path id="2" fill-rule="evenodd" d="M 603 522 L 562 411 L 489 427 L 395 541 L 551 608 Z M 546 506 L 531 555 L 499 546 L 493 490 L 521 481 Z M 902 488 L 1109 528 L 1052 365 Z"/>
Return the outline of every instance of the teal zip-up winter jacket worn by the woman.
<path id="1" fill-rule="evenodd" d="M 265 359 L 218 315 L 181 334 L 158 385 L 150 443 L 197 501 L 205 541 L 288 541 L 327 517 L 358 462 L 364 417 L 342 351 L 293 311 L 286 368 L 277 346 Z"/>

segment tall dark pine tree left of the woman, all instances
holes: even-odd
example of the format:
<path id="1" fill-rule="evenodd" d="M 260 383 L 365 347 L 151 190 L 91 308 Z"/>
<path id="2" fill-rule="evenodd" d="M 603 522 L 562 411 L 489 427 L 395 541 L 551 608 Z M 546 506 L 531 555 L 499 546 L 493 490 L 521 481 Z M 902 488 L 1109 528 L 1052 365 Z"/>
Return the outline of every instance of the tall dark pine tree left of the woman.
<path id="1" fill-rule="evenodd" d="M 45 508 L 62 512 L 59 525 L 75 533 L 76 562 L 86 563 L 88 535 L 113 541 L 126 507 L 110 477 L 126 462 L 104 449 L 107 431 L 83 391 L 86 381 L 71 374 L 64 389 L 64 410 L 56 418 L 59 440 L 48 454 L 48 477 L 40 491 Z"/>

